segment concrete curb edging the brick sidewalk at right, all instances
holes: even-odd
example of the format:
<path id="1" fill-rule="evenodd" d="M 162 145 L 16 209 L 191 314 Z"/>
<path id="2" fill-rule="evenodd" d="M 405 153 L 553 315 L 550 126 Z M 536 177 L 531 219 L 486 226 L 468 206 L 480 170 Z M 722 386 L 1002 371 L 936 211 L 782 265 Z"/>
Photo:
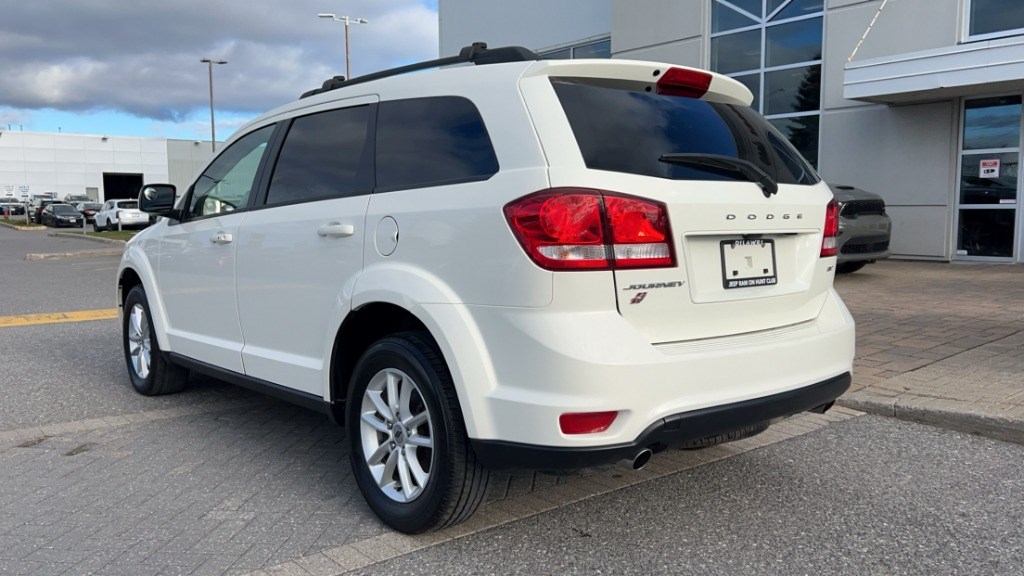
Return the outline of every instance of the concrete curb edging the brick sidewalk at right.
<path id="1" fill-rule="evenodd" d="M 838 404 L 870 414 L 1024 444 L 1024 420 L 1014 416 L 999 416 L 992 409 L 994 407 L 982 410 L 961 401 L 918 396 L 891 397 L 867 389 L 844 396 L 839 399 Z"/>

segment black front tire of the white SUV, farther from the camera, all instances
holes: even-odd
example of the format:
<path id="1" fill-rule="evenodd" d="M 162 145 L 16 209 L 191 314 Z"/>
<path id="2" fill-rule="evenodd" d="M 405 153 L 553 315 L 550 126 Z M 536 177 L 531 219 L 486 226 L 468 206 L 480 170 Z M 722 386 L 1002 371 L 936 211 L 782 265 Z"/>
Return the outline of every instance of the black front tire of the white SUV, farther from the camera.
<path id="1" fill-rule="evenodd" d="M 135 315 L 141 312 L 138 325 L 132 327 L 136 321 Z M 135 286 L 128 292 L 125 298 L 124 315 L 121 321 L 121 344 L 125 355 L 125 365 L 128 368 L 128 378 L 135 392 L 144 396 L 161 396 L 181 392 L 188 382 L 188 370 L 176 366 L 167 359 L 161 352 L 160 343 L 153 334 L 150 319 L 150 302 L 145 297 L 145 290 L 141 285 Z M 131 332 L 131 334 L 130 334 Z M 136 338 L 134 334 L 140 337 Z M 148 351 L 148 363 L 144 369 L 136 366 L 133 351 L 140 346 Z"/>

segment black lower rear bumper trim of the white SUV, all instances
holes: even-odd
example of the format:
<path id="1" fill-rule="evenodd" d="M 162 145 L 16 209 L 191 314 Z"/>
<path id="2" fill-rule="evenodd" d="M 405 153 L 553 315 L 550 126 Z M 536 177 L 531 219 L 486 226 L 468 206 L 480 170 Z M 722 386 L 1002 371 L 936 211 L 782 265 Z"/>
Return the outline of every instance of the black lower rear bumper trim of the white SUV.
<path id="1" fill-rule="evenodd" d="M 801 388 L 724 406 L 667 416 L 650 424 L 636 440 L 613 446 L 562 448 L 495 440 L 471 440 L 477 461 L 495 469 L 561 470 L 609 464 L 685 442 L 733 431 L 751 424 L 823 409 L 850 387 L 850 373 Z"/>

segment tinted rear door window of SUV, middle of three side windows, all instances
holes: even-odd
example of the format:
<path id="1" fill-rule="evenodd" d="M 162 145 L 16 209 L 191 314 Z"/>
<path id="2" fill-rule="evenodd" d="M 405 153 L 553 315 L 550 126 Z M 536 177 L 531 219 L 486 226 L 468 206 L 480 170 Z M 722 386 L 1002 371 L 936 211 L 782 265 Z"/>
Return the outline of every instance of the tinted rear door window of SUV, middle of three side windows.
<path id="1" fill-rule="evenodd" d="M 278 157 L 266 203 L 369 193 L 369 106 L 296 118 Z"/>

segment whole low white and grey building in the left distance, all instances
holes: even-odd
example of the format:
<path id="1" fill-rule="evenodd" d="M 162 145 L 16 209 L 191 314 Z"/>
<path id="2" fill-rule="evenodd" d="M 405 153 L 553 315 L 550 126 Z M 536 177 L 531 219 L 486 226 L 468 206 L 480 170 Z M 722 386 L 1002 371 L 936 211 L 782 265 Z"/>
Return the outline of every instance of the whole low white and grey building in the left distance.
<path id="1" fill-rule="evenodd" d="M 210 158 L 209 140 L 0 130 L 0 197 L 135 198 L 143 182 L 185 190 Z"/>

